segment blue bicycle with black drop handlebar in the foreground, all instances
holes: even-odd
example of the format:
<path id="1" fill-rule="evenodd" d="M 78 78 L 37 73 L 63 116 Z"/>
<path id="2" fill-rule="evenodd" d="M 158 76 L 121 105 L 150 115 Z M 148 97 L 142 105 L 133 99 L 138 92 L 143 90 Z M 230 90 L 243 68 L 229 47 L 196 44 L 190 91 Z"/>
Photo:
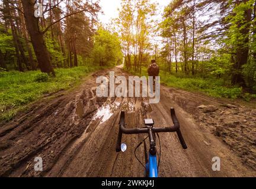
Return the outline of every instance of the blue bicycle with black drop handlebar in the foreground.
<path id="1" fill-rule="evenodd" d="M 148 136 L 143 139 L 142 142 L 140 142 L 139 145 L 135 148 L 135 157 L 140 162 L 140 164 L 145 168 L 145 176 L 146 177 L 158 177 L 158 168 L 161 161 L 161 141 L 159 138 L 158 133 L 159 132 L 176 132 L 178 135 L 178 139 L 180 140 L 181 145 L 184 149 L 187 149 L 187 145 L 185 144 L 183 135 L 180 131 L 180 123 L 178 122 L 178 119 L 175 115 L 174 108 L 171 108 L 171 118 L 172 122 L 174 123 L 174 126 L 168 127 L 168 128 L 155 128 L 153 119 L 145 119 L 144 128 L 134 128 L 134 129 L 127 129 L 125 128 L 125 122 L 124 122 L 124 112 L 121 112 L 120 115 L 120 122 L 119 122 L 119 135 L 117 139 L 117 145 L 116 145 L 116 152 L 121 151 L 121 138 L 123 134 L 127 135 L 133 135 L 133 134 L 139 134 L 139 133 L 148 133 Z M 159 140 L 159 154 L 156 150 L 156 136 L 158 136 Z M 146 139 L 149 138 L 149 153 L 147 151 L 146 146 Z M 137 158 L 136 156 L 136 150 L 139 148 L 140 145 L 144 145 L 144 152 L 145 152 L 145 165 L 142 164 L 142 162 Z M 158 155 L 158 159 L 157 159 Z"/>

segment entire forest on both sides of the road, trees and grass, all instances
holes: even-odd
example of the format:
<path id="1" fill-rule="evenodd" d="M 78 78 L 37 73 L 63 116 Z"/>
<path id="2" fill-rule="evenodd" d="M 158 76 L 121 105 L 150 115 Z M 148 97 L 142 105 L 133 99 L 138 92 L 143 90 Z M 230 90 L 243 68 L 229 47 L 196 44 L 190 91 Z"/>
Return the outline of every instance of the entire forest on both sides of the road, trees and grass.
<path id="1" fill-rule="evenodd" d="M 124 70 L 147 75 L 152 59 L 168 86 L 255 99 L 255 0 L 173 0 L 162 10 L 121 0 L 108 25 L 102 12 L 100 1 L 0 0 L 1 111 L 123 61 Z"/>

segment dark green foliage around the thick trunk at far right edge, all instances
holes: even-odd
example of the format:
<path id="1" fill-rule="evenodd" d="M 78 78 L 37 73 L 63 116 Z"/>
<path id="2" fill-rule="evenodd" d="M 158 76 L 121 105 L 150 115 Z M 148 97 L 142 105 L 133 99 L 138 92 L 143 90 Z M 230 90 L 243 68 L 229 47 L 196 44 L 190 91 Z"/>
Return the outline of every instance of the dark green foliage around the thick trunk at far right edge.
<path id="1" fill-rule="evenodd" d="M 247 0 L 242 1 L 241 3 L 233 3 L 229 1 L 229 5 L 232 8 L 232 14 L 229 14 L 225 18 L 226 22 L 229 23 L 228 30 L 225 32 L 226 38 L 223 38 L 223 43 L 226 44 L 226 48 L 229 53 L 233 54 L 233 63 L 236 64 L 237 58 L 240 51 L 251 51 L 252 53 L 248 54 L 247 63 L 238 64 L 238 67 L 235 69 L 231 67 L 231 73 L 238 73 L 244 76 L 245 84 L 250 89 L 256 91 L 256 63 L 255 57 L 251 56 L 256 52 L 255 48 L 255 18 L 251 19 L 251 16 L 248 15 L 248 12 L 252 10 L 255 11 L 255 1 Z M 248 11 L 249 10 L 249 11 Z M 255 12 L 254 12 L 255 14 Z M 249 18 L 249 19 L 248 19 Z M 245 60 L 246 57 L 242 57 Z M 231 60 L 230 60 L 231 61 Z M 239 65 L 241 66 L 239 67 Z"/>

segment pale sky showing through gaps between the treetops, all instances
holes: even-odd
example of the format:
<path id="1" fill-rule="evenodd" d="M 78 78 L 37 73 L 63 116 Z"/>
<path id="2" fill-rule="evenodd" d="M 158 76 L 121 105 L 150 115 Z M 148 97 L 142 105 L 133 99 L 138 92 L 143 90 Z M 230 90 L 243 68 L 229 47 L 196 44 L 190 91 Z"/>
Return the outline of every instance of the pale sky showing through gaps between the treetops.
<path id="1" fill-rule="evenodd" d="M 151 0 L 152 2 L 158 3 L 158 16 L 161 17 L 161 14 L 164 10 L 164 6 L 167 6 L 171 0 Z M 118 8 L 121 8 L 121 0 L 100 0 L 100 6 L 104 12 L 104 15 L 100 15 L 99 19 L 103 24 L 110 23 L 112 18 L 117 18 L 119 15 Z M 158 18 L 159 18 L 158 17 Z"/>

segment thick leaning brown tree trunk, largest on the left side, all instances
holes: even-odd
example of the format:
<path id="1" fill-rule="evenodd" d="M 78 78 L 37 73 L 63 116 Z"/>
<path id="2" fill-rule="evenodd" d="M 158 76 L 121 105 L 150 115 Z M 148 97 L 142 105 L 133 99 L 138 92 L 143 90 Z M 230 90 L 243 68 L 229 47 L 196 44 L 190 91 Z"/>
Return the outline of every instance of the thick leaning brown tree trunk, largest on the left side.
<path id="1" fill-rule="evenodd" d="M 47 50 L 46 43 L 43 38 L 43 33 L 39 28 L 39 18 L 34 17 L 34 1 L 21 0 L 21 2 L 24 8 L 25 22 L 30 34 L 31 42 L 33 44 L 40 70 L 44 73 L 52 73 L 53 76 L 55 76 L 55 71 L 53 70 L 50 60 L 50 54 Z"/>

